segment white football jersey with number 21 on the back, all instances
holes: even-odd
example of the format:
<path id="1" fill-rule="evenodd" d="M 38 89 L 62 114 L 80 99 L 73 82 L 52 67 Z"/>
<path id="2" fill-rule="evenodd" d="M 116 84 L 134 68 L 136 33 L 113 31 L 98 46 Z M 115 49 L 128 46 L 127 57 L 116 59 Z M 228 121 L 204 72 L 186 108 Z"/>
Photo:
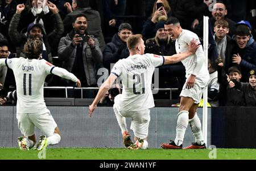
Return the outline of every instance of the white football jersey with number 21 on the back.
<path id="1" fill-rule="evenodd" d="M 154 54 L 132 55 L 120 59 L 111 71 L 122 80 L 122 94 L 115 100 L 118 110 L 139 111 L 155 106 L 151 91 L 155 67 L 163 65 L 164 57 Z"/>

